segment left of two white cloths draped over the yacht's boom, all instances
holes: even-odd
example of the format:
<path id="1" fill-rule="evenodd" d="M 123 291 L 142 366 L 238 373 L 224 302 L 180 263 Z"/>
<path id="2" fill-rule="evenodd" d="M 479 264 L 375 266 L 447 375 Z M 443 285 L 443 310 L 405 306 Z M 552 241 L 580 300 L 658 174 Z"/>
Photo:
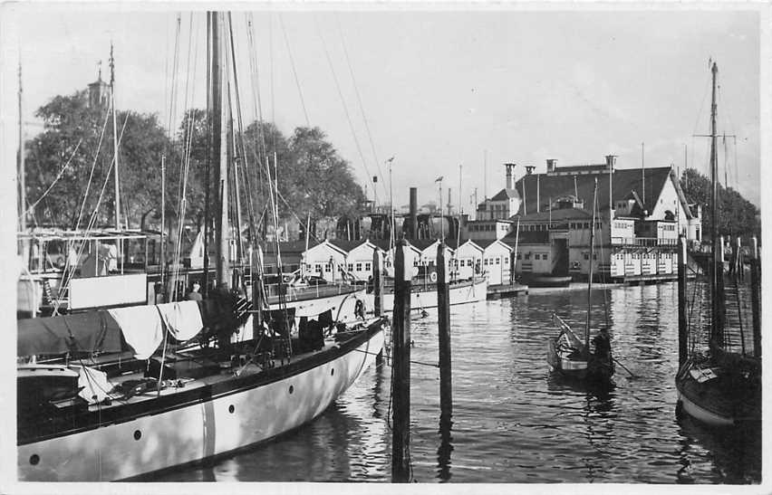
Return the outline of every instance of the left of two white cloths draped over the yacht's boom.
<path id="1" fill-rule="evenodd" d="M 163 326 L 155 306 L 108 309 L 121 327 L 123 338 L 134 349 L 134 357 L 147 359 L 163 341 Z"/>

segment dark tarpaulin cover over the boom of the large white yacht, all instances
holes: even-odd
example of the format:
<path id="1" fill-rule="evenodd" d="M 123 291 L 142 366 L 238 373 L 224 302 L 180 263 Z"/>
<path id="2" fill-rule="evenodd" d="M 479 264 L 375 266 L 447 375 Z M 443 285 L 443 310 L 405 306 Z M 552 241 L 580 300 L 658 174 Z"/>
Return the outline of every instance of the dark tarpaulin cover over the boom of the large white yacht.
<path id="1" fill-rule="evenodd" d="M 19 319 L 16 356 L 121 352 L 121 328 L 106 311 Z"/>

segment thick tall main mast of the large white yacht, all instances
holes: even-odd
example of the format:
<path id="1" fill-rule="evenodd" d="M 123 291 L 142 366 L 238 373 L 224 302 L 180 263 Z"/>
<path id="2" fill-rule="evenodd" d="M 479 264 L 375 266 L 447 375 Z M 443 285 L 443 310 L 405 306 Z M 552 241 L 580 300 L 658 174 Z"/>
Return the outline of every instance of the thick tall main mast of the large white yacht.
<path id="1" fill-rule="evenodd" d="M 223 126 L 223 91 L 222 91 L 222 63 L 220 55 L 222 46 L 219 37 L 220 14 L 209 13 L 211 18 L 211 84 L 212 84 L 212 148 L 209 157 L 211 163 L 217 162 L 215 167 L 215 181 L 217 187 L 217 216 L 215 217 L 215 266 L 217 284 L 227 287 L 230 281 L 228 273 L 228 243 L 227 243 L 227 150 L 222 146 L 226 129 Z"/>

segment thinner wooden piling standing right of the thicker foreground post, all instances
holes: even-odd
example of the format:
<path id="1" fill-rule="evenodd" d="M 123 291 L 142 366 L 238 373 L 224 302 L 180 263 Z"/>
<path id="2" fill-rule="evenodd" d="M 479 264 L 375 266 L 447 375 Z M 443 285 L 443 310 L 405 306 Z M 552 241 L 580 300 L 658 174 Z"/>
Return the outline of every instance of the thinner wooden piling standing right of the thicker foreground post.
<path id="1" fill-rule="evenodd" d="M 445 243 L 437 246 L 437 310 L 439 313 L 439 409 L 441 414 L 453 411 L 453 386 L 450 371 L 450 290 L 448 267 L 445 265 Z"/>

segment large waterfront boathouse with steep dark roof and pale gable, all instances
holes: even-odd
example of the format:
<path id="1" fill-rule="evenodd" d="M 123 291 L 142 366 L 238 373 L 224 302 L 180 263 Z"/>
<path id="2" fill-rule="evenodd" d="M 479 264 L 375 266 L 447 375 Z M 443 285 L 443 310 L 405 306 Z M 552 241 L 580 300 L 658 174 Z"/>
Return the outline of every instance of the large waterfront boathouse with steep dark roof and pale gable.
<path id="1" fill-rule="evenodd" d="M 604 164 L 557 167 L 526 175 L 515 186 L 522 198 L 518 232 L 503 241 L 515 246 L 516 275 L 570 275 L 586 279 L 590 263 L 598 278 L 610 281 L 669 280 L 676 272 L 679 233 L 699 240 L 700 209 L 694 214 L 672 167 L 617 169 L 616 157 Z M 590 259 L 593 189 L 597 181 L 597 218 Z"/>

